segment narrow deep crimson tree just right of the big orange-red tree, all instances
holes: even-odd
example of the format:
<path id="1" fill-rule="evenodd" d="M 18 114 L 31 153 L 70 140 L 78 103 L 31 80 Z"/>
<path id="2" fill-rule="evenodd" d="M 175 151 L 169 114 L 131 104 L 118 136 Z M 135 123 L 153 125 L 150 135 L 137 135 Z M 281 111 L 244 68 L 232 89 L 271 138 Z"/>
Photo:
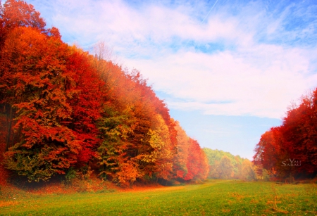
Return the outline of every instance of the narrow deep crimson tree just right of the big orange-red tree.
<path id="1" fill-rule="evenodd" d="M 68 127 L 73 129 L 81 146 L 78 163 L 87 163 L 97 156 L 99 146 L 97 120 L 101 117 L 102 82 L 97 71 L 90 65 L 88 54 L 75 47 L 68 58 L 66 70 L 75 82 L 72 90 L 76 92 L 68 100 L 73 109 Z"/>

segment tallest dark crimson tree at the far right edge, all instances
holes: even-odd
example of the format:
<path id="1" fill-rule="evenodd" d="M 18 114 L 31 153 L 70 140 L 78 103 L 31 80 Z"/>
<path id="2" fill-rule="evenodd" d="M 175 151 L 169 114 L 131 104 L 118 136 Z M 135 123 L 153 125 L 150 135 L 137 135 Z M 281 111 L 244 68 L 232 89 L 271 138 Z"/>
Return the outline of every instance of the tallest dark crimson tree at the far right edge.
<path id="1" fill-rule="evenodd" d="M 317 89 L 302 98 L 302 103 L 289 110 L 282 129 L 292 160 L 300 161 L 293 166 L 297 174 L 310 175 L 317 172 Z"/>

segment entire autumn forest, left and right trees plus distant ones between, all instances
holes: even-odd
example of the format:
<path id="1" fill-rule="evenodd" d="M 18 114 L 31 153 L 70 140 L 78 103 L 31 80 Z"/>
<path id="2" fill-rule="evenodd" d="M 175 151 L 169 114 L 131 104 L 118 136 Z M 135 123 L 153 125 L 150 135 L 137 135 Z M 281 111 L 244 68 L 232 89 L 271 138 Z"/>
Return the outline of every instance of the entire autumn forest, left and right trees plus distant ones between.
<path id="1" fill-rule="evenodd" d="M 35 8 L 0 4 L 0 182 L 89 177 L 119 186 L 317 174 L 317 89 L 261 136 L 254 161 L 201 148 L 138 70 L 62 41 Z"/>

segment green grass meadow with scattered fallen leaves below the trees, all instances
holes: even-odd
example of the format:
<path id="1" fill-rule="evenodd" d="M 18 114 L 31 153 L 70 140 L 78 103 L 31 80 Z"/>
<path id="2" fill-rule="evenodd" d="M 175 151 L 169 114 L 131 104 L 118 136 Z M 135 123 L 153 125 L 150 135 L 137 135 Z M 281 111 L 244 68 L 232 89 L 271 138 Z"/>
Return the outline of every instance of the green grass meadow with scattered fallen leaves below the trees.
<path id="1" fill-rule="evenodd" d="M 145 191 L 2 196 L 0 215 L 317 215 L 316 184 L 209 180 Z"/>

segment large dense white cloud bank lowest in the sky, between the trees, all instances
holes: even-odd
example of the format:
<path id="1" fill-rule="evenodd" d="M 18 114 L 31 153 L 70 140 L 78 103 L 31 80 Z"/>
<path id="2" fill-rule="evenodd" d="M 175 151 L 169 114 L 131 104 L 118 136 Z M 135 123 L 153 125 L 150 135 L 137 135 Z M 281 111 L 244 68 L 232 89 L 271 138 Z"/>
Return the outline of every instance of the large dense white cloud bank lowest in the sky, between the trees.
<path id="1" fill-rule="evenodd" d="M 170 108 L 213 115 L 279 118 L 290 101 L 317 83 L 316 76 L 305 75 L 309 70 L 305 51 L 273 45 L 254 46 L 245 52 L 180 52 L 125 62 L 138 65 L 154 89 L 170 94 Z"/>

